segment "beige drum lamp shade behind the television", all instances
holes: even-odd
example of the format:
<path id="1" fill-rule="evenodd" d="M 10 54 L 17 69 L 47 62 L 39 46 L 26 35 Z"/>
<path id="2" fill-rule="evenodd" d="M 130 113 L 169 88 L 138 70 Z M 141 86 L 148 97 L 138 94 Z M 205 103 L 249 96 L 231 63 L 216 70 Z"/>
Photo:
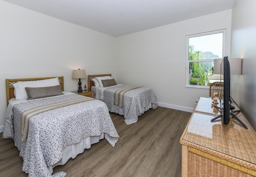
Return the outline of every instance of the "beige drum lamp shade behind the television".
<path id="1" fill-rule="evenodd" d="M 242 58 L 228 58 L 230 65 L 230 74 L 240 75 L 242 74 Z M 214 72 L 213 74 L 223 74 L 223 59 L 214 60 Z"/>

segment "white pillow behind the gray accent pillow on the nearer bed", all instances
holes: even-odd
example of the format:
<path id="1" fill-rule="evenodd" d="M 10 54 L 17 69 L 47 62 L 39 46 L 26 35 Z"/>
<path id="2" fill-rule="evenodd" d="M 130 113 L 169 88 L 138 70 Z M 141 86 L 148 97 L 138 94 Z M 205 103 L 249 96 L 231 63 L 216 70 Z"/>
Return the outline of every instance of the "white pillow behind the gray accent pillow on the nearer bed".
<path id="1" fill-rule="evenodd" d="M 59 78 L 37 80 L 37 81 L 19 81 L 12 84 L 14 87 L 15 99 L 28 98 L 25 87 L 51 87 L 60 85 Z"/>

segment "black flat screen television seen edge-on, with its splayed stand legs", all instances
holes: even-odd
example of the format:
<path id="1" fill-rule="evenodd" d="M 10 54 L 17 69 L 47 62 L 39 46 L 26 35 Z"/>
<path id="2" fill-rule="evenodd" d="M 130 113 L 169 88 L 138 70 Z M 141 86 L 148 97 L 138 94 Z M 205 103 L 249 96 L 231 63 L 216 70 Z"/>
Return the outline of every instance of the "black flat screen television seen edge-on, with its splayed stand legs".
<path id="1" fill-rule="evenodd" d="M 222 111 L 222 114 L 219 116 L 211 119 L 211 121 L 214 121 L 218 119 L 219 117 L 222 117 L 223 124 L 227 125 L 230 121 L 230 115 L 232 115 L 238 122 L 240 122 L 245 128 L 248 128 L 236 115 L 235 112 L 239 112 L 240 110 L 233 111 L 234 106 L 231 105 L 231 99 L 230 99 L 230 64 L 228 61 L 228 57 L 223 58 L 223 74 L 224 74 L 224 88 L 223 88 L 223 105 L 220 100 L 221 107 L 215 106 L 218 109 Z"/>

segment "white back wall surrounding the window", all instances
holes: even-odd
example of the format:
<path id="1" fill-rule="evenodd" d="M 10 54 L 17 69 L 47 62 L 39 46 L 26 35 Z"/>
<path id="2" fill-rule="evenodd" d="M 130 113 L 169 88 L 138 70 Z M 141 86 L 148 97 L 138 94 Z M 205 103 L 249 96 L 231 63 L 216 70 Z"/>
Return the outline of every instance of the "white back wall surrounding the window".
<path id="1" fill-rule="evenodd" d="M 186 36 L 226 28 L 230 55 L 232 10 L 218 12 L 117 38 L 118 80 L 148 86 L 164 107 L 192 111 L 209 89 L 186 88 Z"/>

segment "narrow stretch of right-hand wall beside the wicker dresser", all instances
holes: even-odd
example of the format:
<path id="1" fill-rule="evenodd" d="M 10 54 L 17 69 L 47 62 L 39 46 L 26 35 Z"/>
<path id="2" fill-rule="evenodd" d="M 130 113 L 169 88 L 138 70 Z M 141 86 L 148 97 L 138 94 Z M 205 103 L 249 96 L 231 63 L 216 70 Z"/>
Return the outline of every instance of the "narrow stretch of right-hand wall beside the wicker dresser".
<path id="1" fill-rule="evenodd" d="M 242 75 L 231 76 L 231 96 L 256 129 L 256 1 L 235 0 L 232 8 L 231 57 L 243 58 Z"/>

